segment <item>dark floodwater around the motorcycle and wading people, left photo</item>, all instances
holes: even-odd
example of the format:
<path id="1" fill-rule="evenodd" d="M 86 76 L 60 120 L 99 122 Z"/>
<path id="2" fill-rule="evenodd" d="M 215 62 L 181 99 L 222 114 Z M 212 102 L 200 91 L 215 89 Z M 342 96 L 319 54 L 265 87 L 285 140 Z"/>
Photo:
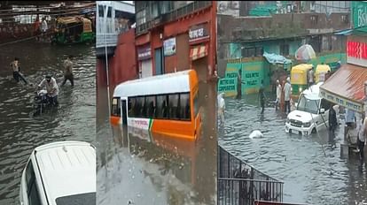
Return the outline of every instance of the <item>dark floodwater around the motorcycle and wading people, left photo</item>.
<path id="1" fill-rule="evenodd" d="M 74 88 L 63 80 L 62 62 L 74 59 Z M 12 79 L 10 63 L 33 86 Z M 96 136 L 96 56 L 94 46 L 51 46 L 21 42 L 0 47 L 0 204 L 19 204 L 20 177 L 32 150 L 59 140 L 94 142 Z M 33 118 L 35 86 L 46 73 L 59 84 L 59 108 Z"/>

